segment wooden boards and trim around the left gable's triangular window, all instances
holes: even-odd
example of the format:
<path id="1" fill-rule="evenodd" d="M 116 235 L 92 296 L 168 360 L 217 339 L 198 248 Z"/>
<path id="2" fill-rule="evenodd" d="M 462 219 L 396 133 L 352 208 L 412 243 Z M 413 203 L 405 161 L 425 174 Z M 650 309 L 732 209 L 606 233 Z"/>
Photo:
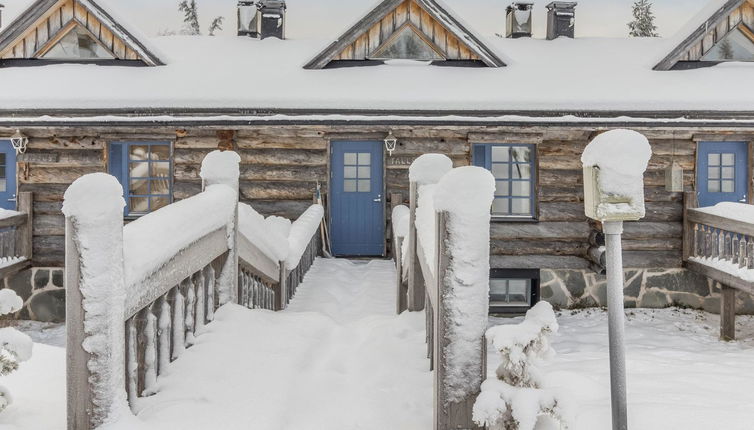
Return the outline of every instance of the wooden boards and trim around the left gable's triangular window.
<path id="1" fill-rule="evenodd" d="M 79 25 L 118 60 L 140 60 L 149 66 L 162 65 L 107 12 L 91 0 L 38 0 L 0 33 L 0 58 L 39 58 L 50 41 Z"/>

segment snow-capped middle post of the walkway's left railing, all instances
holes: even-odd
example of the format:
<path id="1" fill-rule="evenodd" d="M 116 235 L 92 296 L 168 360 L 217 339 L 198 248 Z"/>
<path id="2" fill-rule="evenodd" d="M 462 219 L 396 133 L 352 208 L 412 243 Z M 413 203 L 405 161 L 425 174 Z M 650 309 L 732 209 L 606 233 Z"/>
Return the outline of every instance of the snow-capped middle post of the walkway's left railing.
<path id="1" fill-rule="evenodd" d="M 241 157 L 233 151 L 213 151 L 202 161 L 199 175 L 202 177 L 202 189 L 212 185 L 227 185 L 236 192 L 236 211 L 233 216 L 232 229 L 228 232 L 232 244 L 228 252 L 228 259 L 223 265 L 219 277 L 218 306 L 228 302 L 238 303 L 238 201 L 239 179 L 241 171 L 239 165 Z"/>

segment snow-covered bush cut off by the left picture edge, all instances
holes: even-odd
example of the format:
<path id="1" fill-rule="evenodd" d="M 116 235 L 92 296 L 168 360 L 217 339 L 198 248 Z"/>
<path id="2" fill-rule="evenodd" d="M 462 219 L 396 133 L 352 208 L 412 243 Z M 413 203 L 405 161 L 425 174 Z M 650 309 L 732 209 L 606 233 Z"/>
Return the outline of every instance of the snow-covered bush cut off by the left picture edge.
<path id="1" fill-rule="evenodd" d="M 18 312 L 23 307 L 18 295 L 8 289 L 0 290 L 0 315 Z M 34 344 L 31 338 L 12 327 L 0 329 L 0 376 L 18 369 L 18 364 L 31 358 Z M 13 402 L 10 392 L 0 386 L 0 411 Z"/>

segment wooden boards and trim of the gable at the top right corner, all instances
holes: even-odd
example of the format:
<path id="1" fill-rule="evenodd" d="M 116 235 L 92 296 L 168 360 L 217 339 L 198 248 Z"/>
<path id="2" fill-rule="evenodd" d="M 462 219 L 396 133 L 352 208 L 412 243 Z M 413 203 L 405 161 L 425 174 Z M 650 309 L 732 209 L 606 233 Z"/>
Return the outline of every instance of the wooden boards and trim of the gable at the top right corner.
<path id="1" fill-rule="evenodd" d="M 681 61 L 699 61 L 739 23 L 754 26 L 754 5 L 751 0 L 729 0 L 675 47 L 654 70 L 672 70 Z"/>

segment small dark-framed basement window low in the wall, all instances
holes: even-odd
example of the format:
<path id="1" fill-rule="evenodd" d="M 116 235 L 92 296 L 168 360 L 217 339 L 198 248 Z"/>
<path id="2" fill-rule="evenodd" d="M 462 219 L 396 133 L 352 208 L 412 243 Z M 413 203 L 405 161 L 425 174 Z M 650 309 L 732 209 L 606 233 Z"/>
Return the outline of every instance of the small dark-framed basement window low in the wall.
<path id="1" fill-rule="evenodd" d="M 539 270 L 492 269 L 490 313 L 525 313 L 539 301 Z"/>

